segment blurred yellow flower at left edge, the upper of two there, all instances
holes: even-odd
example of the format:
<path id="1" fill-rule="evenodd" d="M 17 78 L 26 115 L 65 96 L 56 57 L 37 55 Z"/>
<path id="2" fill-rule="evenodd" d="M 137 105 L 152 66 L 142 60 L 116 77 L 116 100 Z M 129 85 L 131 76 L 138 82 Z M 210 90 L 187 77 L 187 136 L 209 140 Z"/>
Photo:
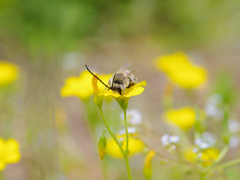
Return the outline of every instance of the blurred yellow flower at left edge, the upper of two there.
<path id="1" fill-rule="evenodd" d="M 0 86 L 7 85 L 18 78 L 18 66 L 6 61 L 0 61 Z"/>

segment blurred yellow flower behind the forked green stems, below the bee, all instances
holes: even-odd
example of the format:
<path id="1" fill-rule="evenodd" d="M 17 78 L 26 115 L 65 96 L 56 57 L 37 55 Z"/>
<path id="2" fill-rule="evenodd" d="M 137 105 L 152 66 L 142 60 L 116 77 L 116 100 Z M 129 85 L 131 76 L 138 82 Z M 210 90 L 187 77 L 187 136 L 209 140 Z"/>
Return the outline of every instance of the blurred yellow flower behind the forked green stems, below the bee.
<path id="1" fill-rule="evenodd" d="M 122 148 L 126 148 L 126 135 L 117 135 L 118 140 L 121 142 Z M 122 139 L 122 141 L 121 141 Z M 133 156 L 135 154 L 139 154 L 143 151 L 144 144 L 139 139 L 133 138 L 131 135 L 128 139 L 128 150 L 129 150 L 129 156 Z M 108 153 L 110 156 L 115 158 L 123 158 L 123 154 L 121 153 L 119 146 L 117 143 L 112 139 L 109 138 L 107 140 L 107 147 L 106 147 L 106 153 Z"/>

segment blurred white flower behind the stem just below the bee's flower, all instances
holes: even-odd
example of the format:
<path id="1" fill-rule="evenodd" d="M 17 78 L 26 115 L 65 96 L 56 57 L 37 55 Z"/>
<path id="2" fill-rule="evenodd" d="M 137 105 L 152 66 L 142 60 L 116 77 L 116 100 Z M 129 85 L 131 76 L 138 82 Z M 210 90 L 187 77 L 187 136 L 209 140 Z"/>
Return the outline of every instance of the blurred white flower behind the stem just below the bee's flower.
<path id="1" fill-rule="evenodd" d="M 120 119 L 124 120 L 124 114 L 120 114 Z M 141 125 L 142 115 L 138 110 L 128 110 L 127 111 L 127 121 L 130 125 Z"/>

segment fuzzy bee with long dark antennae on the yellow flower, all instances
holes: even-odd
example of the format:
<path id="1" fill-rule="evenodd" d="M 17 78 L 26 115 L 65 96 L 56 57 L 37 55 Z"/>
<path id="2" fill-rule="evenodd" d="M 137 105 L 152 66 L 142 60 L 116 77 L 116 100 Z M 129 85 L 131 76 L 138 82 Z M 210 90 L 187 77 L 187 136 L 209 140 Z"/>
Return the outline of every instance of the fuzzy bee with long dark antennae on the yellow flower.
<path id="1" fill-rule="evenodd" d="M 125 89 L 130 88 L 133 85 L 137 84 L 137 78 L 134 77 L 132 74 L 133 71 L 137 69 L 137 67 L 132 68 L 131 70 L 128 70 L 127 68 L 130 66 L 129 63 L 123 64 L 117 72 L 114 73 L 114 75 L 109 79 L 108 84 L 106 85 L 104 82 L 101 81 L 95 74 L 93 74 L 85 65 L 87 70 L 95 76 L 106 88 L 107 90 L 111 89 L 112 91 L 115 91 L 119 93 L 120 95 L 125 94 Z M 105 89 L 106 89 L 105 88 Z"/>

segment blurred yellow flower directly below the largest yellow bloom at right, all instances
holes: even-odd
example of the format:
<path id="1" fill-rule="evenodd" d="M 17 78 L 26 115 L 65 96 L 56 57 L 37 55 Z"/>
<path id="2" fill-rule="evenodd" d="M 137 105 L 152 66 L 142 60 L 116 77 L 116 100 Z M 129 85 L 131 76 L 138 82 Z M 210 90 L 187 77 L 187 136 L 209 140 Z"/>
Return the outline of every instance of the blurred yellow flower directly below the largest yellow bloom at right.
<path id="1" fill-rule="evenodd" d="M 171 109 L 164 113 L 167 122 L 179 126 L 182 129 L 189 129 L 196 122 L 195 110 L 191 107 Z"/>

